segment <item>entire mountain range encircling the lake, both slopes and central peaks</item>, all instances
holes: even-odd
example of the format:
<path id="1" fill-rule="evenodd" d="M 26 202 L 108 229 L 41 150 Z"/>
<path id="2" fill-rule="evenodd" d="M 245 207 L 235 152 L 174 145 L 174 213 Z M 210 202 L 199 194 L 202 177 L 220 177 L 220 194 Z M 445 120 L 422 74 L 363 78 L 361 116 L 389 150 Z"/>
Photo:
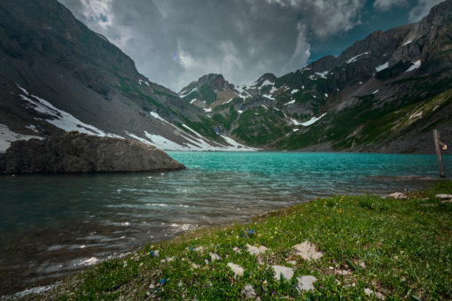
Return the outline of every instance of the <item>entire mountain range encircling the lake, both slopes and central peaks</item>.
<path id="1" fill-rule="evenodd" d="M 222 135 L 230 135 L 271 150 L 430 152 L 434 127 L 452 138 L 451 32 L 446 1 L 338 58 L 265 73 L 249 87 L 207 74 L 175 94 L 56 0 L 4 0 L 0 136 L 78 130 L 163 149 L 224 150 Z"/>

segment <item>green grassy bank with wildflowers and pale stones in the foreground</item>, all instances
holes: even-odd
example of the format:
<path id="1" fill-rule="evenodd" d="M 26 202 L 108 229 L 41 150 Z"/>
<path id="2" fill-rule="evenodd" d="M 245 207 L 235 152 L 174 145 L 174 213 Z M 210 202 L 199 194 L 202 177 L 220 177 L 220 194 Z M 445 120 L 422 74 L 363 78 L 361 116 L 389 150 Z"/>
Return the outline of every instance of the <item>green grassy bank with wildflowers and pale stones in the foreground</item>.
<path id="1" fill-rule="evenodd" d="M 39 298 L 237 299 L 251 284 L 261 299 L 451 299 L 452 203 L 438 193 L 451 194 L 452 181 L 409 199 L 334 196 L 246 225 L 186 233 L 92 266 Z M 307 241 L 321 259 L 295 255 L 293 246 Z M 251 255 L 247 245 L 268 250 Z M 273 265 L 291 267 L 292 278 L 276 280 Z M 302 275 L 316 277 L 314 289 L 296 288 Z"/>

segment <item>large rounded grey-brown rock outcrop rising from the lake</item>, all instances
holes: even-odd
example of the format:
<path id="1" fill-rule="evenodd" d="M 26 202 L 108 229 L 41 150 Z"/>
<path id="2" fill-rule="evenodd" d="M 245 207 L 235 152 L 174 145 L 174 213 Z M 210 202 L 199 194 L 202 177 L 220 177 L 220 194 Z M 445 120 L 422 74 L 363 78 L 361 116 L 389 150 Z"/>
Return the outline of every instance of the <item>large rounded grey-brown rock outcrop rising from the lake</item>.
<path id="1" fill-rule="evenodd" d="M 16 141 L 0 155 L 3 174 L 154 172 L 184 168 L 152 145 L 74 133 Z"/>

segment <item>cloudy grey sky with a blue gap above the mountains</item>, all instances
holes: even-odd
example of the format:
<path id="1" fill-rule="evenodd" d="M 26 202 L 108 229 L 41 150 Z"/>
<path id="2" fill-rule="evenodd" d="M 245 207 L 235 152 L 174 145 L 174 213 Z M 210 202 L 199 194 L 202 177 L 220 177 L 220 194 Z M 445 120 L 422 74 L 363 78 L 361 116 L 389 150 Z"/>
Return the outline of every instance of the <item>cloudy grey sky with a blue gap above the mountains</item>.
<path id="1" fill-rule="evenodd" d="M 442 0 L 58 0 L 178 92 L 207 73 L 249 84 L 422 19 Z"/>

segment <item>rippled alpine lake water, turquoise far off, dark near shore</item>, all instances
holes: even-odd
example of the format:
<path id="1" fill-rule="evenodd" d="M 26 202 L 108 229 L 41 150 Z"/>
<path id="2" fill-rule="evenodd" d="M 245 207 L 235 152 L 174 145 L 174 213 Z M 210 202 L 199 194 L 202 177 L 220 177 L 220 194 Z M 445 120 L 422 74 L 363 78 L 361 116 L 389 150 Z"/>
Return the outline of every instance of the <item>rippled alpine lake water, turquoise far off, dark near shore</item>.
<path id="1" fill-rule="evenodd" d="M 187 170 L 0 176 L 0 295 L 187 229 L 331 194 L 423 189 L 434 156 L 169 152 Z M 444 158 L 446 174 L 452 157 Z"/>

